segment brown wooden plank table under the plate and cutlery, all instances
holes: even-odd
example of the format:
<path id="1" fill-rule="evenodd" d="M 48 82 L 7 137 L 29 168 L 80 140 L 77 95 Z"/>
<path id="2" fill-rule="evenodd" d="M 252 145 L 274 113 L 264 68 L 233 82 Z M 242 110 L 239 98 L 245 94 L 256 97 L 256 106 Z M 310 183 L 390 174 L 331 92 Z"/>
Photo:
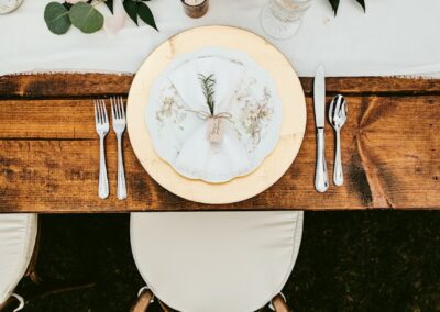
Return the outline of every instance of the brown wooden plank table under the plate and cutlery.
<path id="1" fill-rule="evenodd" d="M 328 78 L 328 101 L 346 96 L 342 131 L 345 183 L 314 188 L 312 79 L 301 79 L 308 124 L 292 168 L 271 189 L 231 205 L 185 201 L 154 182 L 124 137 L 129 198 L 116 198 L 117 146 L 107 137 L 110 198 L 100 200 L 92 99 L 127 97 L 133 76 L 100 74 L 0 77 L 0 212 L 156 210 L 440 209 L 440 80 Z M 332 174 L 333 132 L 327 124 Z"/>

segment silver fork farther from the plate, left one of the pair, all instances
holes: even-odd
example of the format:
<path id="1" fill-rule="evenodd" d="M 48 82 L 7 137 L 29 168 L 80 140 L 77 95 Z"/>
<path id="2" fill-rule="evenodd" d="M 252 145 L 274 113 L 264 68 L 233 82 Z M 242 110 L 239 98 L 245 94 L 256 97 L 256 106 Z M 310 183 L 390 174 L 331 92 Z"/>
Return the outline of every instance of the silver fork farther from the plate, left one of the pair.
<path id="1" fill-rule="evenodd" d="M 106 102 L 95 100 L 95 124 L 99 135 L 99 187 L 98 196 L 101 199 L 109 197 L 109 180 L 107 178 L 105 138 L 109 132 L 109 118 L 107 115 Z"/>

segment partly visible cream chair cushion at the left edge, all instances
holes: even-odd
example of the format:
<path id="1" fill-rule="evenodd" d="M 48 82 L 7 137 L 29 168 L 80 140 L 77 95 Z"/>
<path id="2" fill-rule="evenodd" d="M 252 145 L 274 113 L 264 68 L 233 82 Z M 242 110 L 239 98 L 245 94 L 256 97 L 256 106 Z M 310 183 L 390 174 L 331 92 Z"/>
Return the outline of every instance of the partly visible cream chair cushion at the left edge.
<path id="1" fill-rule="evenodd" d="M 34 213 L 0 214 L 0 304 L 26 272 L 35 245 Z"/>

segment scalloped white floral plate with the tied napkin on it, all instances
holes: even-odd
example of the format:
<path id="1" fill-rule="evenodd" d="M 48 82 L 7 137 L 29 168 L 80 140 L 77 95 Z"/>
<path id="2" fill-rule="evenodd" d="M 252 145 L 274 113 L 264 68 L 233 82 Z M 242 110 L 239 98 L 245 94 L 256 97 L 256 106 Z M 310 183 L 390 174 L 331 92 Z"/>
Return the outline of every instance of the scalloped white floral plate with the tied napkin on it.
<path id="1" fill-rule="evenodd" d="M 202 83 L 206 77 L 215 82 Z M 190 179 L 220 183 L 245 176 L 279 140 L 275 83 L 241 52 L 209 47 L 176 57 L 155 80 L 148 102 L 145 125 L 155 152 Z"/>

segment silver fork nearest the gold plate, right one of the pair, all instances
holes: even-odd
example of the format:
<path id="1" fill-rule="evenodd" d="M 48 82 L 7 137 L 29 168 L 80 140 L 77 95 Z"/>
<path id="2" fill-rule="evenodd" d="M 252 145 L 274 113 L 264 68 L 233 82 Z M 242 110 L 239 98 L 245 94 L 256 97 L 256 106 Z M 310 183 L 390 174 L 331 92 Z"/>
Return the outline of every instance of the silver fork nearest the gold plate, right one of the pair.
<path id="1" fill-rule="evenodd" d="M 119 98 L 110 98 L 111 116 L 113 121 L 113 131 L 118 138 L 118 199 L 127 198 L 125 171 L 122 157 L 122 134 L 125 131 L 125 111 L 123 100 Z"/>

